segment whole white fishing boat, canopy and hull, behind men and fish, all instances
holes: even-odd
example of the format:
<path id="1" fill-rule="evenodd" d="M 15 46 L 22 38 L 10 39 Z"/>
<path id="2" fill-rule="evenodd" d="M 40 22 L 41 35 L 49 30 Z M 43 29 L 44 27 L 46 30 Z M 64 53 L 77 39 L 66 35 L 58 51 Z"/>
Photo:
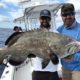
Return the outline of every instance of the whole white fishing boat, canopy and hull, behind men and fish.
<path id="1" fill-rule="evenodd" d="M 26 4 L 27 5 L 27 4 Z M 29 5 L 29 4 L 28 4 Z M 23 16 L 14 19 L 14 22 L 24 23 L 26 31 L 34 30 L 39 28 L 39 14 L 43 9 L 48 9 L 51 11 L 52 21 L 51 21 L 51 29 L 55 31 L 55 16 L 58 10 L 61 8 L 62 3 L 56 4 L 38 4 L 38 5 L 30 5 L 24 8 Z M 32 66 L 33 60 L 28 59 L 24 61 L 24 63 L 20 65 L 12 65 L 7 62 L 7 66 L 5 67 L 0 80 L 32 80 Z M 61 65 L 59 64 L 58 68 L 59 77 L 62 77 L 61 74 Z"/>

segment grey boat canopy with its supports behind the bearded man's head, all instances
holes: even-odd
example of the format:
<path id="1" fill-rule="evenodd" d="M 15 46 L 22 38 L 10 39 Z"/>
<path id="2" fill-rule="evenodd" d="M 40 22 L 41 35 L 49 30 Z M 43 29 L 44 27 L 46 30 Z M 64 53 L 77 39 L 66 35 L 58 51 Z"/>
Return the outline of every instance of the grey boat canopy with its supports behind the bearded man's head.
<path id="1" fill-rule="evenodd" d="M 55 28 L 56 26 L 55 16 L 57 11 L 61 8 L 62 5 L 63 3 L 55 3 L 55 4 L 44 4 L 44 5 L 27 7 L 24 10 L 23 16 L 14 19 L 14 22 L 20 22 L 20 23 L 24 22 L 25 26 L 27 27 L 27 30 L 38 28 L 38 25 L 39 25 L 38 19 L 39 19 L 40 11 L 43 9 L 48 9 L 50 10 L 51 16 L 52 16 L 51 25 L 52 27 L 54 26 L 53 28 Z"/>

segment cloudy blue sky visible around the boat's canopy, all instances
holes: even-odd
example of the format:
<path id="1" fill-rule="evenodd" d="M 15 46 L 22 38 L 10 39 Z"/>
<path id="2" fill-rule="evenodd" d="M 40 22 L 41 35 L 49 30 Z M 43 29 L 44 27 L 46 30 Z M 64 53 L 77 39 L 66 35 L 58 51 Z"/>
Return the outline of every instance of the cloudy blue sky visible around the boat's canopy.
<path id="1" fill-rule="evenodd" d="M 0 28 L 13 28 L 15 25 L 21 26 L 19 23 L 13 23 L 13 20 L 23 15 L 21 0 L 0 0 Z M 37 1 L 37 0 L 36 0 Z M 80 0 L 46 0 L 53 3 L 73 3 L 76 10 L 80 8 Z"/>

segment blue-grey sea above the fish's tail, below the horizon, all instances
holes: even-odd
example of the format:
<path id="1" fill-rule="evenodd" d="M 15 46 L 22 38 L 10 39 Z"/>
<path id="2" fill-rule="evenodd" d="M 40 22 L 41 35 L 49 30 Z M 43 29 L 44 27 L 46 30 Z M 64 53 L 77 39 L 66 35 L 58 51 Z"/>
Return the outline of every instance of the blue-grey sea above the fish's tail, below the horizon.
<path id="1" fill-rule="evenodd" d="M 12 29 L 0 28 L 0 48 L 5 47 L 5 41 L 12 33 Z"/>

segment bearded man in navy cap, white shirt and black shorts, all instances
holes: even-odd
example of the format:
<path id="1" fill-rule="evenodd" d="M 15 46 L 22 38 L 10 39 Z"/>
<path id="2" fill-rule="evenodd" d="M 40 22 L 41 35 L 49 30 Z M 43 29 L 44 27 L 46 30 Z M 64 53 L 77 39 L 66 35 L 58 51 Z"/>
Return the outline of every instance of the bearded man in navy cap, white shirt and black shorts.
<path id="1" fill-rule="evenodd" d="M 51 13 L 49 10 L 42 10 L 40 12 L 40 29 L 42 31 L 50 30 Z M 33 72 L 32 80 L 59 80 L 57 67 L 58 67 L 58 57 L 53 55 L 53 62 L 50 60 L 49 63 L 44 67 L 44 61 L 42 58 L 33 58 Z"/>

